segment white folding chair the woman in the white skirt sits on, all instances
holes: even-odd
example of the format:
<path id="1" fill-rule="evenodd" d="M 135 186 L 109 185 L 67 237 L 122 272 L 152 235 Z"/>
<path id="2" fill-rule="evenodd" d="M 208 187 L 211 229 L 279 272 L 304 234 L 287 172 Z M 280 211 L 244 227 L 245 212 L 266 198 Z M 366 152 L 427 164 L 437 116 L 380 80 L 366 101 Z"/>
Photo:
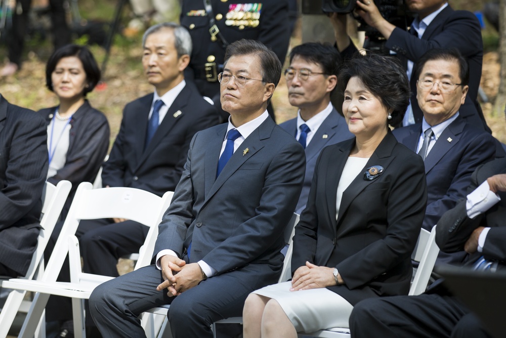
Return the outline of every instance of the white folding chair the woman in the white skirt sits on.
<path id="1" fill-rule="evenodd" d="M 436 226 L 432 228 L 431 232 L 425 229 L 420 229 L 420 235 L 418 236 L 416 246 L 413 250 L 413 254 L 411 255 L 411 260 L 419 262 L 419 264 L 409 288 L 409 295 L 418 295 L 426 290 L 431 277 L 432 269 L 436 264 L 438 254 L 439 247 L 436 244 Z M 367 325 L 367 323 L 364 323 L 364 325 Z M 350 338 L 350 329 L 344 327 L 333 327 L 311 333 L 299 333 L 299 336 Z"/>

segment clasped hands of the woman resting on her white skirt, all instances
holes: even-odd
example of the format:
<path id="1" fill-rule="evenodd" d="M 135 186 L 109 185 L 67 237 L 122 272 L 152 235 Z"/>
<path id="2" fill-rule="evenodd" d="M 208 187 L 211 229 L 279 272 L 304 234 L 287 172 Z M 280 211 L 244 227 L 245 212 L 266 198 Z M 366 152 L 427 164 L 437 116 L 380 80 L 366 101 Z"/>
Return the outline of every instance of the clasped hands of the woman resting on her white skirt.
<path id="1" fill-rule="evenodd" d="M 295 271 L 291 280 L 290 291 L 309 290 L 335 285 L 334 268 L 320 267 L 309 262 Z M 341 275 L 338 281 L 343 284 Z"/>

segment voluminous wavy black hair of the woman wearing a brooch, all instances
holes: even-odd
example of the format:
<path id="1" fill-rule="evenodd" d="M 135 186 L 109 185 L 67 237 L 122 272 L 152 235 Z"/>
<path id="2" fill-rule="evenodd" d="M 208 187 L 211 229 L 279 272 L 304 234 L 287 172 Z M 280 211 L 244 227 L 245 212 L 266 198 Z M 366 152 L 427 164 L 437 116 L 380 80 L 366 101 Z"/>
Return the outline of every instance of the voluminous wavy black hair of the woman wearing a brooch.
<path id="1" fill-rule="evenodd" d="M 408 77 L 399 60 L 371 52 L 365 55 L 356 53 L 340 71 L 338 86 L 341 94 L 353 76 L 357 76 L 387 110 L 393 110 L 388 123 L 398 125 L 409 105 L 410 96 Z"/>

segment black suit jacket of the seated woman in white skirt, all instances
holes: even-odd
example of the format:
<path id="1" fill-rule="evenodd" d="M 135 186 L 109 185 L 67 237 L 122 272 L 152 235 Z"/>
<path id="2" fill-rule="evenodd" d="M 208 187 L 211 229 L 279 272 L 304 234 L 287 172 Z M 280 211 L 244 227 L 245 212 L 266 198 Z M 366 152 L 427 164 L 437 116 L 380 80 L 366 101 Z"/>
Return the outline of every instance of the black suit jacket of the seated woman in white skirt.
<path id="1" fill-rule="evenodd" d="M 410 256 L 427 202 L 423 161 L 389 132 L 362 171 L 381 165 L 383 174 L 368 181 L 360 173 L 353 180 L 343 193 L 336 222 L 336 191 L 354 144 L 351 139 L 321 151 L 291 260 L 292 273 L 306 261 L 337 268 L 345 284 L 328 289 L 352 305 L 407 294 Z"/>

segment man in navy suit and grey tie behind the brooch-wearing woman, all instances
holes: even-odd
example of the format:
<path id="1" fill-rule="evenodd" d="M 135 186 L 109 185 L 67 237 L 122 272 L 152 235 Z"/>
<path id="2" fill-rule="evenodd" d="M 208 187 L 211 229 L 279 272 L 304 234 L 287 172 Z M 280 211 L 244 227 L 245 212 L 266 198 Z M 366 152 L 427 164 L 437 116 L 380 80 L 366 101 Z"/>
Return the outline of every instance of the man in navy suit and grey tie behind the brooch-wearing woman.
<path id="1" fill-rule="evenodd" d="M 460 116 L 469 82 L 457 50 L 432 50 L 419 60 L 418 105 L 423 121 L 394 130 L 397 140 L 425 161 L 428 201 L 423 227 L 431 230 L 463 198 L 476 168 L 495 156 L 495 140 Z M 462 253 L 463 254 L 463 253 Z M 460 262 L 462 257 L 447 258 Z"/>

